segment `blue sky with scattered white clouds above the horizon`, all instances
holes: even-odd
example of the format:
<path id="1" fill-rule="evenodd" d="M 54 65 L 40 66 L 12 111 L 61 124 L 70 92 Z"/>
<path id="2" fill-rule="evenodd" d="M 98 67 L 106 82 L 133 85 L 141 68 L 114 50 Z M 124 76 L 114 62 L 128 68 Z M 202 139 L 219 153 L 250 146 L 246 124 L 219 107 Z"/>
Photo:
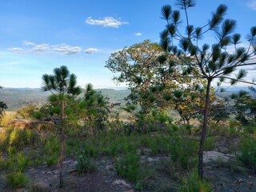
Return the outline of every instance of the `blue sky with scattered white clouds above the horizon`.
<path id="1" fill-rule="evenodd" d="M 189 11 L 191 23 L 205 24 L 220 3 L 228 6 L 226 18 L 237 20 L 237 32 L 245 37 L 256 25 L 256 0 L 198 0 Z M 65 65 L 82 87 L 89 82 L 95 88 L 113 87 L 106 60 L 112 52 L 145 39 L 158 42 L 166 25 L 160 18 L 166 4 L 174 1 L 2 1 L 0 85 L 40 87 L 42 74 Z M 205 39 L 212 42 L 214 36 Z M 255 72 L 251 67 L 248 78 Z"/>

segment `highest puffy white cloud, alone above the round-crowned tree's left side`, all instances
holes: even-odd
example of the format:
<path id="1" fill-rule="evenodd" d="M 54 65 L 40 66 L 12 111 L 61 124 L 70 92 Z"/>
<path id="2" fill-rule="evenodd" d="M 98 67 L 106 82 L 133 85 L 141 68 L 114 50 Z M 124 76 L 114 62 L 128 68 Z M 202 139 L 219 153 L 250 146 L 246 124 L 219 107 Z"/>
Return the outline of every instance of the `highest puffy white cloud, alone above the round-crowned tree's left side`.
<path id="1" fill-rule="evenodd" d="M 121 22 L 112 17 L 106 17 L 103 19 L 93 19 L 93 18 L 89 17 L 89 18 L 86 18 L 86 23 L 90 24 L 90 25 L 95 25 L 95 26 L 118 28 L 119 26 L 128 24 L 129 22 Z"/>

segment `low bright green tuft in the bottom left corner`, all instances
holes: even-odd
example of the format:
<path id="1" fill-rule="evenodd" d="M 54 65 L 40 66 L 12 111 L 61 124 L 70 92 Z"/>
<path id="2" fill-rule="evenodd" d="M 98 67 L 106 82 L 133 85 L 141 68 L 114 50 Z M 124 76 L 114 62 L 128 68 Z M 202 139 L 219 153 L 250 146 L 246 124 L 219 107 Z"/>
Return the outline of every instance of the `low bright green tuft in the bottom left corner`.
<path id="1" fill-rule="evenodd" d="M 27 176 L 25 174 L 22 174 L 22 172 L 20 171 L 6 175 L 6 184 L 12 189 L 25 187 L 28 185 L 29 182 L 29 178 L 27 178 Z"/>

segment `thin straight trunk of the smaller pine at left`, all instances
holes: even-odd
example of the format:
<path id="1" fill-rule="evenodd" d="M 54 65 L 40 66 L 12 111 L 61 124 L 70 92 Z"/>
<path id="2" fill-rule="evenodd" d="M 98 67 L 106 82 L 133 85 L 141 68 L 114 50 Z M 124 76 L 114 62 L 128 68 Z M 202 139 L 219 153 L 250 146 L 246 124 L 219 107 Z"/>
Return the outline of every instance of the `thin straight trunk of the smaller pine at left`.
<path id="1" fill-rule="evenodd" d="M 61 154 L 59 156 L 58 164 L 59 164 L 59 187 L 62 188 L 63 186 L 63 177 L 62 177 L 62 170 L 63 170 L 63 154 L 64 154 L 64 101 L 62 101 L 62 133 L 61 133 Z"/>

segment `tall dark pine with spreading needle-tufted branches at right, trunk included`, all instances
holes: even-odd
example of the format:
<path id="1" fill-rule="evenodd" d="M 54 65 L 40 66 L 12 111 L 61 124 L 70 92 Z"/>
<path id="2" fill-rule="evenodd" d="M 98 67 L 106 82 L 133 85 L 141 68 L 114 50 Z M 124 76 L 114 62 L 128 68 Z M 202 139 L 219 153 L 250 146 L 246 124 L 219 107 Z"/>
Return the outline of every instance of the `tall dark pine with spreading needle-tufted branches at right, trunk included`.
<path id="1" fill-rule="evenodd" d="M 166 54 L 174 55 L 178 59 L 174 65 L 183 66 L 184 74 L 194 71 L 199 77 L 206 80 L 206 101 L 204 107 L 204 119 L 202 123 L 202 135 L 198 153 L 198 174 L 203 177 L 202 161 L 203 149 L 206 139 L 207 118 L 210 109 L 210 87 L 215 78 L 230 80 L 230 84 L 246 82 L 246 70 L 239 70 L 238 74 L 232 76 L 234 70 L 240 66 L 254 65 L 252 58 L 255 56 L 256 26 L 250 29 L 247 36 L 248 47 L 239 45 L 240 34 L 234 34 L 236 22 L 231 19 L 224 20 L 227 7 L 218 6 L 217 10 L 204 26 L 193 26 L 190 22 L 188 9 L 195 6 L 194 0 L 176 0 L 177 5 L 185 14 L 185 33 L 181 30 L 181 13 L 179 10 L 172 10 L 170 5 L 162 6 L 162 18 L 166 20 L 166 29 L 161 33 L 161 42 Z M 203 36 L 212 32 L 216 41 L 210 44 L 202 44 Z M 232 46 L 232 47 L 231 47 Z M 233 51 L 232 51 L 233 50 Z M 232 53 L 231 53 L 232 52 Z M 254 83 L 252 83 L 254 84 Z"/>

